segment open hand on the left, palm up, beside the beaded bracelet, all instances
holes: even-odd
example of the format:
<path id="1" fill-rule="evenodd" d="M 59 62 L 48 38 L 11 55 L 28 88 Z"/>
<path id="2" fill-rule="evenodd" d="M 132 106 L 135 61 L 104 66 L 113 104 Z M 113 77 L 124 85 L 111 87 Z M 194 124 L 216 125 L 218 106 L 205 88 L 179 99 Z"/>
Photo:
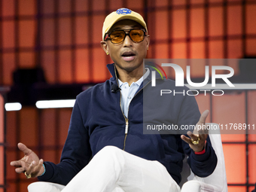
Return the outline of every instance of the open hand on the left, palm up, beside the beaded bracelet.
<path id="1" fill-rule="evenodd" d="M 44 160 L 39 160 L 38 156 L 23 143 L 18 143 L 18 148 L 23 151 L 24 157 L 21 160 L 14 160 L 11 166 L 17 167 L 17 173 L 26 172 L 32 178 L 38 177 L 44 173 Z"/>

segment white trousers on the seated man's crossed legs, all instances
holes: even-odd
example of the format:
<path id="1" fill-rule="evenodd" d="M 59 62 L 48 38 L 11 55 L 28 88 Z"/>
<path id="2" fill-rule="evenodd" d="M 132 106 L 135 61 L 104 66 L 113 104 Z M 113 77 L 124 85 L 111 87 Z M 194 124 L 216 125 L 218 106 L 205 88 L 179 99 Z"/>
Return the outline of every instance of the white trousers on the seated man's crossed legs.
<path id="1" fill-rule="evenodd" d="M 178 192 L 180 187 L 158 161 L 114 146 L 102 148 L 62 192 Z"/>

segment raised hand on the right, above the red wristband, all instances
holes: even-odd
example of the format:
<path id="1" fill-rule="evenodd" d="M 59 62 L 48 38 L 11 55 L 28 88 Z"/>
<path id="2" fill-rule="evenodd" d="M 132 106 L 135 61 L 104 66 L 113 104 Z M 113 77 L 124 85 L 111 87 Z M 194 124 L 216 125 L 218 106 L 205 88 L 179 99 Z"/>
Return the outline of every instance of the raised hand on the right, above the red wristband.
<path id="1" fill-rule="evenodd" d="M 200 120 L 198 121 L 194 132 L 187 132 L 187 136 L 189 137 L 181 135 L 181 139 L 184 142 L 187 142 L 190 148 L 192 148 L 195 152 L 203 151 L 205 147 L 206 139 L 208 137 L 208 130 L 203 129 L 203 125 L 206 124 L 206 117 L 208 116 L 208 114 L 209 110 L 203 111 L 203 114 L 201 114 Z"/>

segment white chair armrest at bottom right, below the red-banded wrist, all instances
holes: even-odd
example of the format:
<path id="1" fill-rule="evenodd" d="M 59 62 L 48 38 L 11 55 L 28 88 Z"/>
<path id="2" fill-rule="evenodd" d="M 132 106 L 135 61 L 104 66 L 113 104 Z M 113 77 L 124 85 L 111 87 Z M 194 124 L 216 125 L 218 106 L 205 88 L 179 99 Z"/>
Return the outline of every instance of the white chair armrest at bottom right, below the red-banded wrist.
<path id="1" fill-rule="evenodd" d="M 221 192 L 221 189 L 212 184 L 206 184 L 202 181 L 190 180 L 183 184 L 181 192 Z"/>

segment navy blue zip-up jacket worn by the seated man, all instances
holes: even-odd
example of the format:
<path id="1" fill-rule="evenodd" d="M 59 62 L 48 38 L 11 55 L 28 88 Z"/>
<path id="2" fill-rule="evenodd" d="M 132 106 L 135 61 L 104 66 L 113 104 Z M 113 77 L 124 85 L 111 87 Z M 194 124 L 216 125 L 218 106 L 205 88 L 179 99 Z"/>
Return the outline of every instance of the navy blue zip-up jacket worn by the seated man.
<path id="1" fill-rule="evenodd" d="M 151 69 L 151 68 L 150 68 Z M 111 92 L 113 84 L 117 84 L 114 64 L 108 65 L 113 76 L 102 84 L 96 84 L 77 96 L 69 125 L 69 134 L 62 150 L 59 164 L 44 162 L 46 172 L 38 177 L 40 181 L 68 184 L 69 181 L 89 163 L 90 158 L 107 145 L 114 145 L 130 154 L 157 160 L 166 167 L 177 183 L 181 181 L 182 160 L 187 154 L 192 171 L 206 177 L 215 169 L 217 157 L 206 142 L 205 154 L 194 154 L 186 142 L 177 134 L 143 134 L 143 100 L 156 105 L 144 108 L 147 123 L 172 123 L 181 125 L 196 124 L 200 119 L 200 111 L 194 96 L 181 94 L 187 87 L 175 87 L 171 80 L 157 79 L 156 87 L 151 87 L 151 75 L 143 81 L 141 87 L 130 102 L 128 117 L 124 117 L 120 108 L 120 91 Z M 160 98 L 160 90 L 164 86 L 176 89 L 176 94 L 164 94 Z M 166 89 L 166 88 L 165 88 Z M 184 92 L 185 93 L 185 92 Z M 150 96 L 146 96 L 146 94 Z M 144 95 L 144 99 L 143 99 Z M 160 102 L 154 102 L 154 99 Z M 163 101 L 163 102 L 162 102 Z M 157 121 L 168 117 L 168 122 Z M 144 117 L 145 117 L 144 116 Z M 125 139 L 125 127 L 128 133 Z"/>

